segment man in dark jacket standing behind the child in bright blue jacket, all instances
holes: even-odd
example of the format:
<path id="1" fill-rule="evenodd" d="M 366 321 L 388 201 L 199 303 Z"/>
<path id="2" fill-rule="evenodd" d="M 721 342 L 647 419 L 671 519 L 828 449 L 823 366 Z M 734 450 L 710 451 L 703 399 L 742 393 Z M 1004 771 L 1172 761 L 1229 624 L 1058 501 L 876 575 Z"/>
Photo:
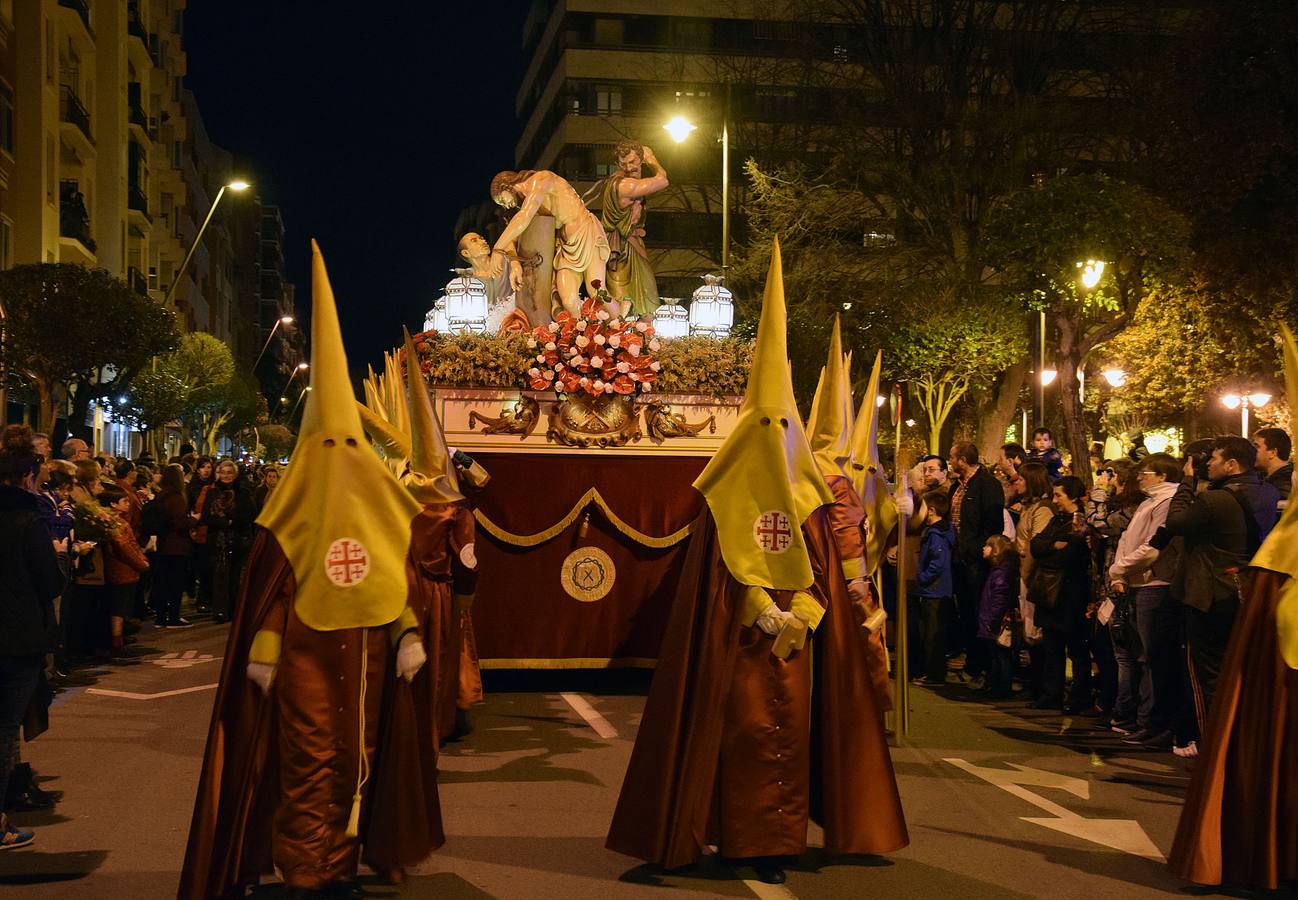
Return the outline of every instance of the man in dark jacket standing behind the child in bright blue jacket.
<path id="1" fill-rule="evenodd" d="M 951 649 L 958 652 L 974 642 L 979 597 L 988 574 L 983 544 L 1005 530 L 1005 491 L 1001 482 L 979 462 L 977 445 L 967 440 L 957 443 L 948 462 L 959 479 L 951 488 L 955 605 L 959 612 L 958 643 Z"/>

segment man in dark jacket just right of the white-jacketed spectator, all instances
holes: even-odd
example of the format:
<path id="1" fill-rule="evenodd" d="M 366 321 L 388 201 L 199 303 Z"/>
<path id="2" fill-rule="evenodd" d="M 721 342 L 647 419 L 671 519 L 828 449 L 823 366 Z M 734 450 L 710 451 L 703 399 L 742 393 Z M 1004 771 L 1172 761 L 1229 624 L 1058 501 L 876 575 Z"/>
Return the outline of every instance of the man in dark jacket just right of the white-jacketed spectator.
<path id="1" fill-rule="evenodd" d="M 1256 462 L 1258 451 L 1247 438 L 1214 440 L 1208 490 L 1188 504 L 1173 505 L 1167 525 L 1150 540 L 1163 551 L 1172 538 L 1185 539 L 1172 594 L 1188 606 L 1185 640 L 1201 723 L 1207 721 L 1221 657 L 1240 612 L 1238 573 L 1276 523 L 1280 495 L 1258 477 Z"/>

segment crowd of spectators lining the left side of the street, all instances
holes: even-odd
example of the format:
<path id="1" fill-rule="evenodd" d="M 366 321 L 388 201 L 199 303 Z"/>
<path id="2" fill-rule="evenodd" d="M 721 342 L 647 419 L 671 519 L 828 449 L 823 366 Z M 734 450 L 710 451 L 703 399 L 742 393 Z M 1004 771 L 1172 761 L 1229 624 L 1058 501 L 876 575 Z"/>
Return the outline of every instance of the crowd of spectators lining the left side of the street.
<path id="1" fill-rule="evenodd" d="M 92 456 L 23 425 L 0 442 L 0 849 L 32 840 L 10 812 L 44 809 L 21 740 L 48 723 L 53 691 L 78 670 L 136 665 L 144 629 L 225 622 L 239 596 L 253 521 L 274 465 L 197 456 L 166 464 Z"/>

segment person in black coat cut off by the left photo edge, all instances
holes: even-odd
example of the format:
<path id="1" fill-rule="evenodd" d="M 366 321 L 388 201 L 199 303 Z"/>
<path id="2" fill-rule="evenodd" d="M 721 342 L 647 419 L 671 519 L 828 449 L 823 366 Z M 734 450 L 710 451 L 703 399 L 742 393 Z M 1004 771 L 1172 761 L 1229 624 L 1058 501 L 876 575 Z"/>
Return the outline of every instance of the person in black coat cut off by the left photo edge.
<path id="1" fill-rule="evenodd" d="M 64 587 L 57 551 L 36 499 L 40 456 L 31 429 L 10 425 L 0 439 L 0 797 L 5 796 L 23 716 L 53 652 L 53 599 Z M 0 849 L 35 839 L 0 812 Z"/>

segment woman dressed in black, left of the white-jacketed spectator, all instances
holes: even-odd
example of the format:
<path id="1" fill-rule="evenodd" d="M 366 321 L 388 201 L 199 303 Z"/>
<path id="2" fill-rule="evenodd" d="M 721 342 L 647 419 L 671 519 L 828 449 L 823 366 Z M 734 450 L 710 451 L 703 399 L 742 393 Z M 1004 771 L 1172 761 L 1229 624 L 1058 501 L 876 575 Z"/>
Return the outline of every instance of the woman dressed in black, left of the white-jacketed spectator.
<path id="1" fill-rule="evenodd" d="M 1080 478 L 1063 475 L 1051 496 L 1055 514 L 1032 539 L 1036 565 L 1028 584 L 1042 630 L 1045 657 L 1041 696 L 1032 704 L 1033 709 L 1059 709 L 1064 704 L 1064 656 L 1072 661 L 1072 691 L 1066 712 L 1084 712 L 1094 704 L 1086 639 L 1090 548 L 1081 512 L 1085 492 Z"/>

